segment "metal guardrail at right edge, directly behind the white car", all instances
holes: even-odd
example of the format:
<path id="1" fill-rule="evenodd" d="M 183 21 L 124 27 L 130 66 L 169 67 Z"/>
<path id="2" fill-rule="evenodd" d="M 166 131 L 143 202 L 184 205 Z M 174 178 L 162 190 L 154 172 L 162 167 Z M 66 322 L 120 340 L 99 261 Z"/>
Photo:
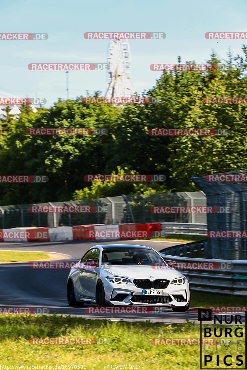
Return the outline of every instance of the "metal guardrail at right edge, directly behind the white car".
<path id="1" fill-rule="evenodd" d="M 171 254 L 167 254 L 171 253 Z M 173 248 L 162 249 L 160 251 L 165 260 L 174 260 L 177 263 L 210 263 L 228 266 L 231 269 L 220 268 L 217 270 L 201 269 L 198 270 L 179 270 L 187 277 L 191 290 L 200 292 L 231 294 L 247 296 L 247 260 L 226 260 L 226 259 L 207 259 L 186 257 L 194 253 L 207 253 L 207 240 L 196 243 L 187 243 Z M 166 254 L 164 254 L 166 253 Z"/>

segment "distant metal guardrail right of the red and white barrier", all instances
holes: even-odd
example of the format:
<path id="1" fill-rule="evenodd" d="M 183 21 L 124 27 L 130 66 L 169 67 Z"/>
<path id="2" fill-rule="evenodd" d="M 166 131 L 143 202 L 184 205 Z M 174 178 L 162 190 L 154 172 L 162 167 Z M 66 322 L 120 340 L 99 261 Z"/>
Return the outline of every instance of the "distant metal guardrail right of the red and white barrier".
<path id="1" fill-rule="evenodd" d="M 207 235 L 206 223 L 162 222 L 161 233 L 182 235 Z"/>

